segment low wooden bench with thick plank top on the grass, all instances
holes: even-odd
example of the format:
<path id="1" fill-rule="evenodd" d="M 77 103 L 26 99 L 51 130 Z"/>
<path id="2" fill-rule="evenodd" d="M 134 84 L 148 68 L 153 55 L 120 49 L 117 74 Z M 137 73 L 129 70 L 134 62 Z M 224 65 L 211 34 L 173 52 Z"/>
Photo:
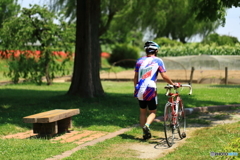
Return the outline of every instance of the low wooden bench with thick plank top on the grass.
<path id="1" fill-rule="evenodd" d="M 23 117 L 23 121 L 25 123 L 33 123 L 33 133 L 54 135 L 68 132 L 68 129 L 72 127 L 72 116 L 79 113 L 79 109 L 55 109 Z"/>

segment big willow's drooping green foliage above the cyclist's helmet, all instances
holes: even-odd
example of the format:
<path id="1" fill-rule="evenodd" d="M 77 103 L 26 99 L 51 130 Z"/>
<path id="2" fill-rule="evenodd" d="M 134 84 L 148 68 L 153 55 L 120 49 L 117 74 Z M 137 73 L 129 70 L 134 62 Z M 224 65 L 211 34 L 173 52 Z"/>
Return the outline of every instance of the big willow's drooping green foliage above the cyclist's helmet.
<path id="1" fill-rule="evenodd" d="M 142 45 L 143 34 L 150 33 L 155 38 L 167 37 L 186 43 L 195 35 L 208 35 L 220 25 L 217 21 L 196 20 L 191 7 L 189 0 L 134 1 L 116 13 L 101 40 L 104 44 L 129 43 L 129 39 L 137 37 L 140 43 L 136 44 Z"/>

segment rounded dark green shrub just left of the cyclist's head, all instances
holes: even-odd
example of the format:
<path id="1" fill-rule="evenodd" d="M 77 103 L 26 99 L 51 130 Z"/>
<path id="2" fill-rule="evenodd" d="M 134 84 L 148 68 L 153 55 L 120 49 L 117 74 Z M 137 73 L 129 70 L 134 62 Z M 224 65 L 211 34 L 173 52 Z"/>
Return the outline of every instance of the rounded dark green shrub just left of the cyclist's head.
<path id="1" fill-rule="evenodd" d="M 117 44 L 112 50 L 112 54 L 108 59 L 109 63 L 124 68 L 132 68 L 135 66 L 136 60 L 139 58 L 139 49 L 127 44 Z"/>

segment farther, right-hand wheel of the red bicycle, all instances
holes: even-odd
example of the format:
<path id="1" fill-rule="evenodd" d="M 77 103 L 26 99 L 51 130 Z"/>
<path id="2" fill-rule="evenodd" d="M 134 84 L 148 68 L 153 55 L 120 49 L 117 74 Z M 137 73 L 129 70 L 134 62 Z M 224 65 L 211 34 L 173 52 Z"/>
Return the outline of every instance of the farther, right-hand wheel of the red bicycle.
<path id="1" fill-rule="evenodd" d="M 186 135 L 186 115 L 182 101 L 179 102 L 178 110 L 178 134 L 181 139 L 185 138 Z"/>

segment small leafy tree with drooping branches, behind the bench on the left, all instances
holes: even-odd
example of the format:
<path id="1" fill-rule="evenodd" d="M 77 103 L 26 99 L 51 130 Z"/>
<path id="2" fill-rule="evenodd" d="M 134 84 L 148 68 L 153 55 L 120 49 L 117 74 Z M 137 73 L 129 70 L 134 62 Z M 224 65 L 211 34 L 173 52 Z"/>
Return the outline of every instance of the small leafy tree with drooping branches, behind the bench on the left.
<path id="1" fill-rule="evenodd" d="M 59 24 L 55 24 L 55 20 L 59 20 Z M 11 55 L 7 75 L 15 83 L 22 77 L 38 84 L 45 76 L 47 84 L 51 84 L 55 73 L 65 74 L 65 64 L 71 58 L 74 27 L 46 7 L 23 8 L 18 17 L 5 21 L 0 31 L 1 46 L 7 56 Z M 20 55 L 16 55 L 16 50 Z M 64 51 L 67 55 L 62 59 L 54 51 Z"/>

